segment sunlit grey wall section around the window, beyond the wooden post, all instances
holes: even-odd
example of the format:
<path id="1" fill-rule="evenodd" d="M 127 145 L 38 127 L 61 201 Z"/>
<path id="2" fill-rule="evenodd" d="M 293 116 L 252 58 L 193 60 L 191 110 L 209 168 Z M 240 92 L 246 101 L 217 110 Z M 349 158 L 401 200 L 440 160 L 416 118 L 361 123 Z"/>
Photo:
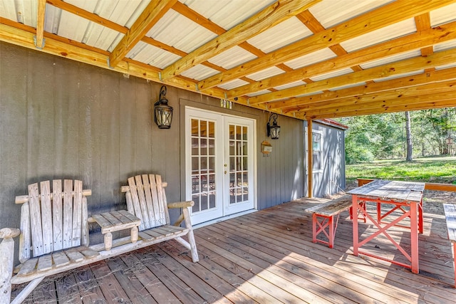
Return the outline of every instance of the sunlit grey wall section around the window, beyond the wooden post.
<path id="1" fill-rule="evenodd" d="M 304 122 L 304 127 L 306 125 Z M 312 123 L 312 130 L 323 131 L 323 173 L 314 173 L 312 194 L 330 196 L 346 188 L 344 130 L 316 121 Z"/>

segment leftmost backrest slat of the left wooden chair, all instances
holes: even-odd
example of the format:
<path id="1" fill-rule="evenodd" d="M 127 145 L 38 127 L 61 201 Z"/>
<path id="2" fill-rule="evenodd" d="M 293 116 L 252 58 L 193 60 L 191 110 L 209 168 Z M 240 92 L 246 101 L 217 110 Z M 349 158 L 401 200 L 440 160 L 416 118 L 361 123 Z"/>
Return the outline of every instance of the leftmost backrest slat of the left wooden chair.
<path id="1" fill-rule="evenodd" d="M 28 202 L 30 206 L 31 243 L 33 246 L 33 256 L 41 256 L 44 251 L 38 183 L 28 185 Z"/>

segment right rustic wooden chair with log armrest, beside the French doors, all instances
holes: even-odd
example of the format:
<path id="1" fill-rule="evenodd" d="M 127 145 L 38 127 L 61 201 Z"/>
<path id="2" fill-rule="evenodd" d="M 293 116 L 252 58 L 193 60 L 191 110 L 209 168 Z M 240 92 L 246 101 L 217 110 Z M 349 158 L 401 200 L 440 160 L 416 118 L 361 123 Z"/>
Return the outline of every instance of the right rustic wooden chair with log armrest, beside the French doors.
<path id="1" fill-rule="evenodd" d="M 127 210 L 141 219 L 139 237 L 143 242 L 152 245 L 170 239 L 175 239 L 190 250 L 192 260 L 198 261 L 195 236 L 193 236 L 190 211 L 193 201 L 180 201 L 167 204 L 165 195 L 166 182 L 155 174 L 142 174 L 130 177 L 128 186 L 122 187 L 127 199 Z M 174 225 L 170 224 L 169 208 L 182 208 L 182 214 Z M 182 221 L 185 227 L 181 227 Z M 188 241 L 182 239 L 187 235 Z"/>

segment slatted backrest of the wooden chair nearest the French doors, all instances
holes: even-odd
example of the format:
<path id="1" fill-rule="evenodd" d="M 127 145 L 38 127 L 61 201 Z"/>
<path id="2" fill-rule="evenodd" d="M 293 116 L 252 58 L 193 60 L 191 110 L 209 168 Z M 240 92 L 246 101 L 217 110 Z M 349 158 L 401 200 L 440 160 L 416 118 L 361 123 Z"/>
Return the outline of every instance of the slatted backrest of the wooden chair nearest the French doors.
<path id="1" fill-rule="evenodd" d="M 165 190 L 160 175 L 142 174 L 128 179 L 127 206 L 140 218 L 140 231 L 170 224 Z"/>

